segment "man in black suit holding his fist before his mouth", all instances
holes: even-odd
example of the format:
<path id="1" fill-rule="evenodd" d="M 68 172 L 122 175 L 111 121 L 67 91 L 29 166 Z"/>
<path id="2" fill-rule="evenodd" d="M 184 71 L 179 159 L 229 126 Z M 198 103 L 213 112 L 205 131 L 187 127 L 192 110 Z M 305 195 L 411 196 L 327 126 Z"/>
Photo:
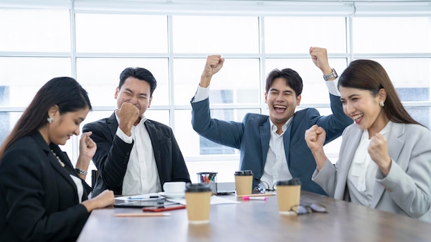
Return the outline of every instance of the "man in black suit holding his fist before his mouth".
<path id="1" fill-rule="evenodd" d="M 115 91 L 118 109 L 109 118 L 83 127 L 84 132 L 93 132 L 97 144 L 93 196 L 105 189 L 115 195 L 160 192 L 166 181 L 190 182 L 171 128 L 145 118 L 156 85 L 147 69 L 124 69 Z"/>

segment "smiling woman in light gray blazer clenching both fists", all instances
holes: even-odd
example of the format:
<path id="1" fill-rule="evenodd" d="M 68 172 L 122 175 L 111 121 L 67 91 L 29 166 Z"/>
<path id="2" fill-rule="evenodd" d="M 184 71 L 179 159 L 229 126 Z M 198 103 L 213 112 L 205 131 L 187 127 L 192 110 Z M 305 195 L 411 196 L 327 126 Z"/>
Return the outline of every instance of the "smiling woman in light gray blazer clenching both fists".
<path id="1" fill-rule="evenodd" d="M 338 88 L 355 123 L 344 130 L 335 165 L 324 153 L 324 129 L 306 131 L 313 181 L 335 199 L 431 222 L 431 132 L 407 113 L 375 61 L 350 63 Z"/>

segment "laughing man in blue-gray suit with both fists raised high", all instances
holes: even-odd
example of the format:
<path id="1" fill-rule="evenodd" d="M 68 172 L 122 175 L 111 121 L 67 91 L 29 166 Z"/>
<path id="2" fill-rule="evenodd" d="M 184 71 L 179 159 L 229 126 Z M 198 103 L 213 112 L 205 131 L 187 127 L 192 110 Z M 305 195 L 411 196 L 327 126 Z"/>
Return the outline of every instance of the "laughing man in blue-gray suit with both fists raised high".
<path id="1" fill-rule="evenodd" d="M 306 129 L 318 124 L 327 131 L 326 143 L 341 135 L 352 120 L 344 115 L 337 90 L 337 73 L 328 64 L 326 49 L 311 47 L 313 63 L 324 74 L 333 114 L 322 116 L 316 109 L 295 112 L 301 102 L 302 79 L 293 69 L 278 69 L 266 79 L 265 102 L 269 116 L 247 113 L 242 122 L 211 119 L 209 84 L 224 63 L 218 55 L 208 56 L 198 91 L 191 100 L 193 129 L 203 137 L 240 149 L 240 170 L 253 170 L 253 187 L 299 177 L 302 189 L 326 195 L 311 175 L 316 164 L 304 140 Z M 325 143 L 325 144 L 326 144 Z"/>

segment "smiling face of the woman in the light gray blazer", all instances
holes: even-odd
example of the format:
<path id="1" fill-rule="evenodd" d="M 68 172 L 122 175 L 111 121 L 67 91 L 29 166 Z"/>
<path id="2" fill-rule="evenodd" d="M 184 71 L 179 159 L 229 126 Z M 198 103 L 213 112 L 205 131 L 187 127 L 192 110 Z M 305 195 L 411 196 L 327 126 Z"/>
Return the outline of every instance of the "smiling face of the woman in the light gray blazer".
<path id="1" fill-rule="evenodd" d="M 339 92 L 344 113 L 355 121 L 359 129 L 368 129 L 370 137 L 386 126 L 389 119 L 380 106 L 380 101 L 386 100 L 384 89 L 380 89 L 377 96 L 374 96 L 371 91 L 351 87 L 340 86 Z"/>

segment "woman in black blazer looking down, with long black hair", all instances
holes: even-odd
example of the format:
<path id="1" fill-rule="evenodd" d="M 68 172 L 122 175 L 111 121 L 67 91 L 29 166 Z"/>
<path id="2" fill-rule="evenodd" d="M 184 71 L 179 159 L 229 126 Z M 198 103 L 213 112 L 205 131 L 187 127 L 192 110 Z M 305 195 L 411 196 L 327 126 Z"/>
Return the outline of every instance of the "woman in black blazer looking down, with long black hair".
<path id="1" fill-rule="evenodd" d="M 43 85 L 0 147 L 0 241 L 75 241 L 90 212 L 111 206 L 105 190 L 88 199 L 96 144 L 83 133 L 76 168 L 59 148 L 92 109 L 73 78 Z"/>

